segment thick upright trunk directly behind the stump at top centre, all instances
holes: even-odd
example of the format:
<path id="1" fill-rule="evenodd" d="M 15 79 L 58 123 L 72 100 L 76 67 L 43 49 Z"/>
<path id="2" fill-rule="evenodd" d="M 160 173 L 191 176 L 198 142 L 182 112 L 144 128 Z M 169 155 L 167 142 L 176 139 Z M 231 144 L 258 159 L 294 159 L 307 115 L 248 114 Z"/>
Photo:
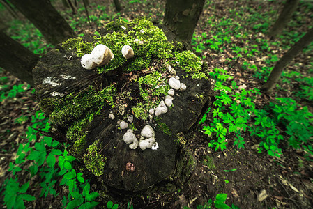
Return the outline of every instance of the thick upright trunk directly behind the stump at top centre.
<path id="1" fill-rule="evenodd" d="M 163 22 L 188 49 L 203 7 L 204 0 L 167 0 Z"/>

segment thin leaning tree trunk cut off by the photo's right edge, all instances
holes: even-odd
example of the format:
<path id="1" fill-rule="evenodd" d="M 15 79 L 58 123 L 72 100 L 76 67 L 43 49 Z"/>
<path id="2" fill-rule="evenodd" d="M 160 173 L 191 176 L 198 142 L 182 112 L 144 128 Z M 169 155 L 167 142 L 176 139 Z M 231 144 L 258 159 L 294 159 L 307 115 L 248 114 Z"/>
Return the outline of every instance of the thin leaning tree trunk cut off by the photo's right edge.
<path id="1" fill-rule="evenodd" d="M 299 52 L 302 52 L 302 50 L 307 47 L 307 45 L 310 44 L 310 42 L 313 41 L 313 28 L 307 31 L 305 36 L 298 40 L 289 50 L 282 56 L 282 58 L 277 61 L 274 69 L 272 72 L 270 72 L 270 76 L 268 77 L 268 80 L 264 86 L 262 86 L 262 89 L 266 92 L 273 91 L 273 88 L 275 84 L 280 79 L 280 75 L 282 75 L 282 71 L 286 67 L 286 65 L 295 57 Z"/>

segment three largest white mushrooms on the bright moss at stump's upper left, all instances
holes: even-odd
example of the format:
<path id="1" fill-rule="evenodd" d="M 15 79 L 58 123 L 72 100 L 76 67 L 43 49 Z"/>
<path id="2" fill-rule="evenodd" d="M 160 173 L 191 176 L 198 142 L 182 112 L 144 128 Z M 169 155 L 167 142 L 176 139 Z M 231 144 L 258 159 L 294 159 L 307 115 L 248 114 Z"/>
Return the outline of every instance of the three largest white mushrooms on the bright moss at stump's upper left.
<path id="1" fill-rule="evenodd" d="M 125 59 L 130 59 L 134 56 L 134 51 L 129 45 L 123 46 L 121 52 Z M 111 49 L 106 45 L 100 44 L 94 47 L 90 54 L 84 54 L 80 63 L 86 70 L 92 70 L 98 66 L 107 65 L 113 58 L 114 54 Z"/>

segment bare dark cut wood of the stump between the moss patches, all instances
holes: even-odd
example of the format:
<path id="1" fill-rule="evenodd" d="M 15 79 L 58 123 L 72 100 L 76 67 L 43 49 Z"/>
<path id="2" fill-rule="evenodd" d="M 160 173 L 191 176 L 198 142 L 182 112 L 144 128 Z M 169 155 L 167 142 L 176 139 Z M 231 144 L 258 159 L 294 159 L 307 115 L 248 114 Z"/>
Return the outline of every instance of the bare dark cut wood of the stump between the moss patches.
<path id="1" fill-rule="evenodd" d="M 135 117 L 132 123 L 135 127 L 139 125 L 135 132 L 137 136 L 140 134 L 143 124 L 153 127 L 155 139 L 158 142 L 157 150 L 149 148 L 141 150 L 139 147 L 131 150 L 123 141 L 123 134 L 127 129 L 121 130 L 117 124 L 122 116 L 115 115 L 114 120 L 109 119 L 109 107 L 103 107 L 101 114 L 91 122 L 84 149 L 86 150 L 93 141 L 100 139 L 100 143 L 102 143 L 100 154 L 107 157 L 107 160 L 105 160 L 103 174 L 98 176 L 98 180 L 105 187 L 134 192 L 147 189 L 174 174 L 178 163 L 177 134 L 187 132 L 192 125 L 199 121 L 203 111 L 207 110 L 211 97 L 211 84 L 208 80 L 183 78 L 183 70 L 176 69 L 176 71 L 177 75 L 181 77 L 181 82 L 186 84 L 187 90 L 176 91 L 174 105 L 168 109 L 167 113 L 158 117 L 154 116 L 154 118 L 158 118 L 158 123 L 142 121 Z M 77 94 L 89 86 L 101 86 L 102 88 L 104 81 L 107 82 L 108 78 L 109 80 L 119 78 L 122 73 L 121 70 L 116 70 L 116 72 L 106 75 L 99 74 L 96 70 L 85 70 L 80 65 L 80 59 L 77 56 L 61 49 L 52 49 L 40 59 L 36 68 L 33 69 L 38 102 L 45 98 L 59 99 L 70 93 Z M 118 89 L 119 91 L 121 89 Z M 48 115 L 51 114 L 49 107 L 44 107 L 43 111 Z M 160 123 L 165 123 L 171 134 L 162 132 L 157 127 Z M 139 137 L 137 138 L 139 139 Z M 70 144 L 69 140 L 67 142 Z M 83 155 L 75 155 L 75 157 L 83 162 Z M 126 171 L 128 162 L 134 165 L 135 171 Z"/>

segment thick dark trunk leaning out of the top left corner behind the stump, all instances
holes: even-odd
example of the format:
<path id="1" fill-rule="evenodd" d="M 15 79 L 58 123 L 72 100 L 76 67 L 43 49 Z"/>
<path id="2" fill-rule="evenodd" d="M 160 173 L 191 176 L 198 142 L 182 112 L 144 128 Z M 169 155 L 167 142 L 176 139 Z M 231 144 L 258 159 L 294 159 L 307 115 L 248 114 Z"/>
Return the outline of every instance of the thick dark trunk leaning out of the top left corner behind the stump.
<path id="1" fill-rule="evenodd" d="M 73 29 L 49 0 L 10 0 L 10 3 L 20 10 L 52 45 L 75 37 Z"/>

